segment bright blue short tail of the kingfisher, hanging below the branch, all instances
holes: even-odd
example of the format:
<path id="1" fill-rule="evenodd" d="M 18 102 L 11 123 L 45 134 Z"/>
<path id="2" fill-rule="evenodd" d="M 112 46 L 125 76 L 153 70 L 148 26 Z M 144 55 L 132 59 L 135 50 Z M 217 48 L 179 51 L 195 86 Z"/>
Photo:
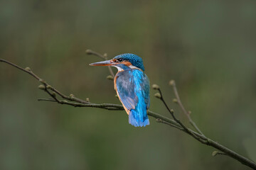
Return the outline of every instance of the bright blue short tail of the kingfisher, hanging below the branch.
<path id="1" fill-rule="evenodd" d="M 131 110 L 129 112 L 129 124 L 134 125 L 135 127 L 149 125 L 149 118 L 146 111 L 144 113 L 139 113 L 135 110 Z"/>

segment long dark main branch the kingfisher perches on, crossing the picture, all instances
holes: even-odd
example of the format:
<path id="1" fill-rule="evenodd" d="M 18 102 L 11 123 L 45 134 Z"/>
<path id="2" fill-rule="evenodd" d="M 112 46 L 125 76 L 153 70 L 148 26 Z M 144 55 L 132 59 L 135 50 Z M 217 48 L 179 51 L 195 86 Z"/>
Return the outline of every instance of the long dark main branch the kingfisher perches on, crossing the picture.
<path id="1" fill-rule="evenodd" d="M 118 104 L 112 104 L 112 103 L 102 103 L 102 104 L 97 104 L 97 103 L 90 103 L 88 101 L 83 101 L 79 98 L 75 98 L 73 95 L 70 96 L 65 96 L 64 94 L 60 93 L 57 89 L 54 89 L 52 86 L 50 86 L 48 83 L 46 83 L 46 81 L 43 81 L 43 79 L 41 79 L 40 77 L 38 77 L 36 74 L 34 74 L 31 69 L 29 69 L 28 67 L 26 67 L 25 69 L 23 69 L 22 67 L 19 67 L 16 64 L 13 64 L 9 61 L 0 59 L 0 62 L 5 62 L 6 64 L 9 64 L 13 67 L 16 67 L 18 69 L 20 69 L 23 72 L 26 72 L 28 74 L 30 74 L 32 77 L 34 77 L 35 79 L 37 79 L 38 81 L 41 82 L 42 85 L 38 86 L 39 89 L 42 89 L 43 91 L 46 91 L 46 93 L 51 97 L 51 98 L 38 98 L 38 101 L 50 101 L 50 102 L 56 102 L 56 103 L 60 103 L 63 105 L 70 105 L 70 106 L 74 106 L 74 107 L 91 107 L 91 108 L 102 108 L 102 109 L 107 109 L 107 110 L 111 110 L 111 111 L 122 111 L 124 110 L 122 105 L 118 105 Z M 159 91 L 159 95 L 162 98 L 162 94 L 161 91 Z M 60 100 L 57 98 L 57 96 L 60 96 L 63 99 L 66 100 Z M 148 111 L 148 115 L 156 118 L 159 123 L 164 123 L 166 125 L 170 125 L 171 127 L 174 127 L 178 130 L 181 130 L 183 132 L 186 132 L 188 135 L 191 135 L 193 138 L 195 138 L 196 140 L 198 140 L 199 142 L 201 142 L 203 145 L 208 145 L 211 147 L 214 147 L 215 149 L 218 149 L 221 151 L 221 153 L 223 154 L 227 154 L 229 157 L 232 157 L 233 159 L 238 160 L 239 162 L 241 162 L 242 164 L 245 164 L 246 166 L 251 167 L 252 169 L 256 169 L 256 164 L 255 162 L 252 162 L 250 159 L 247 159 L 246 157 L 243 157 L 242 155 L 234 152 L 233 150 L 228 149 L 227 147 L 224 147 L 223 145 L 220 145 L 218 142 L 215 142 L 213 140 L 211 140 L 210 138 L 195 132 L 189 128 L 186 128 L 185 125 L 183 125 L 180 120 L 178 120 L 175 115 L 174 115 L 174 111 L 172 111 L 166 104 L 166 102 L 164 101 L 164 98 L 161 99 L 164 102 L 164 105 L 166 106 L 166 108 L 168 109 L 169 113 L 171 113 L 172 117 L 174 118 L 174 120 L 170 119 L 170 118 L 166 118 L 163 115 L 159 115 L 159 113 L 154 113 L 153 111 Z"/>

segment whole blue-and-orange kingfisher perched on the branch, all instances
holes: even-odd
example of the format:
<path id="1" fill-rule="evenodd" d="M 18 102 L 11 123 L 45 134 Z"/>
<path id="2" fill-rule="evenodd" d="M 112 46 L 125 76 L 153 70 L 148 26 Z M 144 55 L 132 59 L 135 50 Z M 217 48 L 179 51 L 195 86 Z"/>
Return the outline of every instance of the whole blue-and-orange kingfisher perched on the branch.
<path id="1" fill-rule="evenodd" d="M 142 58 L 134 54 L 117 55 L 112 60 L 95 62 L 91 66 L 112 66 L 117 68 L 114 89 L 129 115 L 129 124 L 135 127 L 149 125 L 146 111 L 149 109 L 149 79 L 144 73 Z"/>

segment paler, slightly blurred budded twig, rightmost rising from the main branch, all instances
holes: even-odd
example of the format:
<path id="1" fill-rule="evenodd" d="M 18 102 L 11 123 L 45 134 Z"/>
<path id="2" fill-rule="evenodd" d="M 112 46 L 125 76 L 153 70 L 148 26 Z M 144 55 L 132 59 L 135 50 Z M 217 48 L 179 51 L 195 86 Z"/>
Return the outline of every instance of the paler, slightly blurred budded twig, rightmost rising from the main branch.
<path id="1" fill-rule="evenodd" d="M 176 83 L 174 80 L 171 80 L 169 83 L 173 89 L 174 89 L 174 94 L 176 96 L 176 103 L 178 103 L 178 106 L 181 107 L 181 110 L 183 111 L 183 113 L 187 116 L 189 123 L 191 123 L 191 125 L 193 126 L 193 128 L 196 129 L 196 131 L 198 131 L 201 135 L 203 135 L 203 132 L 198 128 L 198 126 L 196 125 L 196 123 L 194 123 L 194 121 L 192 120 L 191 116 L 190 116 L 190 112 L 186 111 L 186 108 L 183 106 L 182 102 L 181 102 L 181 98 L 178 95 L 178 90 L 176 88 Z"/>

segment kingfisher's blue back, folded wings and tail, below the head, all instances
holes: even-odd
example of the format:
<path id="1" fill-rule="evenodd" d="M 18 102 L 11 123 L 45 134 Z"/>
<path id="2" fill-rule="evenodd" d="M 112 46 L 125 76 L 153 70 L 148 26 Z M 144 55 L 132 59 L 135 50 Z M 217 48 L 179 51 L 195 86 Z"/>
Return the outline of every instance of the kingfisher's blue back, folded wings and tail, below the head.
<path id="1" fill-rule="evenodd" d="M 127 69 L 116 76 L 117 94 L 129 111 L 129 123 L 135 127 L 149 125 L 149 79 L 139 69 Z"/>

